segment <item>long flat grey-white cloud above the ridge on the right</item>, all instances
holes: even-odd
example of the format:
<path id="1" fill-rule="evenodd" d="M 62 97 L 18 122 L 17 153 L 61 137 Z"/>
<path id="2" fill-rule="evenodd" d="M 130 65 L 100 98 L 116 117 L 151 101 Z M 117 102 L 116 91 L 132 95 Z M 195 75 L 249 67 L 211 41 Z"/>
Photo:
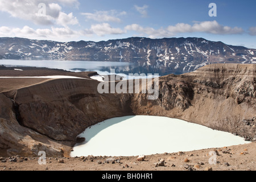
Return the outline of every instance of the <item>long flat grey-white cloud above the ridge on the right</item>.
<path id="1" fill-rule="evenodd" d="M 243 29 L 238 27 L 222 26 L 218 22 L 206 21 L 198 22 L 193 25 L 185 23 L 177 23 L 175 26 L 168 26 L 167 28 L 159 28 L 155 30 L 151 27 L 142 27 L 139 24 L 131 24 L 125 27 L 125 30 L 137 31 L 148 35 L 150 38 L 170 37 L 180 33 L 191 32 L 205 32 L 209 34 L 229 35 L 229 34 L 242 34 Z"/>

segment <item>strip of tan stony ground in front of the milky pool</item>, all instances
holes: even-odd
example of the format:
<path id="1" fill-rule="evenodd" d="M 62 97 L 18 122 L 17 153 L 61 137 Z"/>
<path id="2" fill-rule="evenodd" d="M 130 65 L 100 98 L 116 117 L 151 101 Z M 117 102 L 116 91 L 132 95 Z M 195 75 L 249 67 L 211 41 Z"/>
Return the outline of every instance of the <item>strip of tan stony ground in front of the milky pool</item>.
<path id="1" fill-rule="evenodd" d="M 13 156 L 0 158 L 1 171 L 255 171 L 256 143 L 209 148 L 191 152 L 145 156 L 82 156 L 77 158 L 39 158 Z M 216 164 L 210 151 L 215 151 Z M 42 160 L 40 160 L 42 161 Z M 210 162 L 210 163 L 209 163 Z"/>

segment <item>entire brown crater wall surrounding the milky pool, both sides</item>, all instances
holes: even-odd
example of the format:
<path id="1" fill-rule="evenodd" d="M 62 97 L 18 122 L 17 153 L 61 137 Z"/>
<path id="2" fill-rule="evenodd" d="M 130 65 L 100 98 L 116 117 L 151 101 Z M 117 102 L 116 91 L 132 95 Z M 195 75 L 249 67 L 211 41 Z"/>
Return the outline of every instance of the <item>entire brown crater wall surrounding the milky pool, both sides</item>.
<path id="1" fill-rule="evenodd" d="M 89 78 L 49 69 L 0 70 L 2 76 L 49 74 Z M 147 94 L 99 94 L 96 80 L 0 78 L 0 156 L 68 156 L 86 127 L 135 114 L 180 118 L 255 140 L 255 81 L 255 64 L 207 65 L 160 77 L 159 98 L 149 101 Z"/>

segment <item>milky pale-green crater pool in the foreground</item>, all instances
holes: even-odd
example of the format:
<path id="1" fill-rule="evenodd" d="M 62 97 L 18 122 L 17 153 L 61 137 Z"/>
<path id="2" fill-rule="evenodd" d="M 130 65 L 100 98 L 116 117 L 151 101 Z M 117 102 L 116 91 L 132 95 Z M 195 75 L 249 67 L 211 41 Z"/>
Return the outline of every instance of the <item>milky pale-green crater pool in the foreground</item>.
<path id="1" fill-rule="evenodd" d="M 84 131 L 71 156 L 137 156 L 250 143 L 223 131 L 180 119 L 155 116 L 112 118 Z"/>

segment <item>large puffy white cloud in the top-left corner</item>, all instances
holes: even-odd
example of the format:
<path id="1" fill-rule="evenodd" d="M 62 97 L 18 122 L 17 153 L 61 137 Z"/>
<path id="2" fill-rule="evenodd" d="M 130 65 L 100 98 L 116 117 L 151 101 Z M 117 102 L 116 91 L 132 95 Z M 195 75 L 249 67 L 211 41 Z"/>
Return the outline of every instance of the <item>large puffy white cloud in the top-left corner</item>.
<path id="1" fill-rule="evenodd" d="M 50 25 L 57 22 L 58 24 L 63 23 L 64 26 L 68 24 L 78 24 L 78 20 L 73 14 L 65 14 L 61 11 L 61 6 L 55 2 L 63 5 L 77 5 L 77 0 L 0 0 L 0 11 L 9 13 L 15 18 L 24 20 L 30 20 L 35 24 Z M 40 3 L 46 5 L 46 14 L 42 16 L 40 10 L 44 7 L 39 6 Z"/>

